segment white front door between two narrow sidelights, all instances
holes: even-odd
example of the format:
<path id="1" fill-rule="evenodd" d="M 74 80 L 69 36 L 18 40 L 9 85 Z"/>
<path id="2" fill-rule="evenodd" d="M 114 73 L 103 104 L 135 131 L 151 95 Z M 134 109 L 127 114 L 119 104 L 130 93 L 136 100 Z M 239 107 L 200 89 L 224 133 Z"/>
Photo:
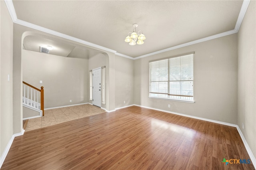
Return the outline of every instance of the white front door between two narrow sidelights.
<path id="1" fill-rule="evenodd" d="M 101 68 L 92 70 L 92 104 L 101 107 Z"/>

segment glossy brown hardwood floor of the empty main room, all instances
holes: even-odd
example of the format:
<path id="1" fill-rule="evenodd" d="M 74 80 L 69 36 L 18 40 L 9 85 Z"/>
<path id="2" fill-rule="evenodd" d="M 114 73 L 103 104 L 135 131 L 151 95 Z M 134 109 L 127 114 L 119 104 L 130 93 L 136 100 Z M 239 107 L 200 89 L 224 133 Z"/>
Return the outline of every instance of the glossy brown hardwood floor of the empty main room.
<path id="1" fill-rule="evenodd" d="M 25 132 L 1 169 L 254 169 L 223 158 L 250 159 L 235 127 L 132 106 Z"/>

